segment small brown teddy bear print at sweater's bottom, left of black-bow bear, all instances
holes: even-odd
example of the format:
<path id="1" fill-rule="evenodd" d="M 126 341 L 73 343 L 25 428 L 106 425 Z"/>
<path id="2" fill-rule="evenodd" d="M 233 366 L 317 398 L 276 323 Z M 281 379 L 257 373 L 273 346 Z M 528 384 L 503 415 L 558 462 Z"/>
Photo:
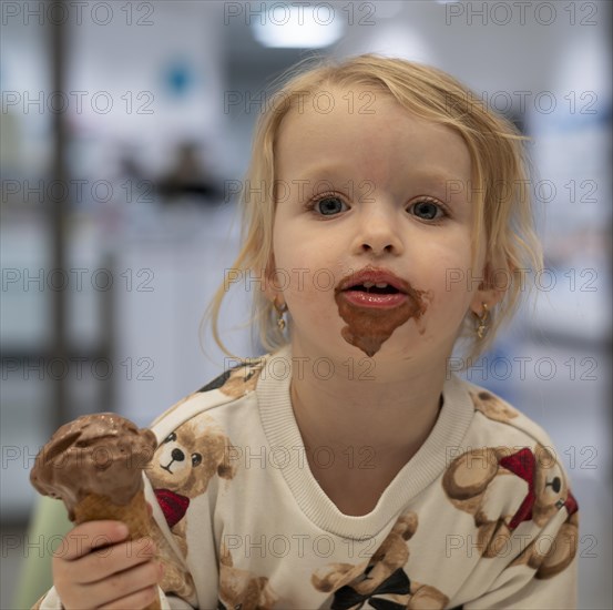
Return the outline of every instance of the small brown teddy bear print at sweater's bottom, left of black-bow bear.
<path id="1" fill-rule="evenodd" d="M 235 568 L 232 553 L 222 542 L 217 610 L 270 610 L 277 600 L 268 578 Z"/>

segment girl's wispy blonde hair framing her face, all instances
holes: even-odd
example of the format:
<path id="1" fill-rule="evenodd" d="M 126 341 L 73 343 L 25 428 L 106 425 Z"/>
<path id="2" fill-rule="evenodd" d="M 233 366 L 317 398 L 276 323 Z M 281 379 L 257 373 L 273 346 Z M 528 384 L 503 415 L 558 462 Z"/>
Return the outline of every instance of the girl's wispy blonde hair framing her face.
<path id="1" fill-rule="evenodd" d="M 495 271 L 490 267 L 483 279 L 491 285 L 502 273 L 507 283 L 504 298 L 491 309 L 490 328 L 484 339 L 474 340 L 474 317 L 470 313 L 464 319 L 460 336 L 469 340 L 470 359 L 477 358 L 489 347 L 500 325 L 515 313 L 525 288 L 523 274 L 542 267 L 541 247 L 533 228 L 530 172 L 522 142 L 525 138 L 511 122 L 484 108 L 469 89 L 436 68 L 372 53 L 341 62 L 317 59 L 314 67 L 308 65 L 310 61 L 307 59 L 306 67 L 302 62 L 280 77 L 285 84 L 266 98 L 266 109 L 258 119 L 251 165 L 239 194 L 243 246 L 232 270 L 226 270 L 224 283 L 205 314 L 216 344 L 236 357 L 226 349 L 218 334 L 219 309 L 229 283 L 228 273 L 246 277 L 256 272 L 260 276 L 270 260 L 276 210 L 273 187 L 276 181 L 275 141 L 282 121 L 298 103 L 304 103 L 305 96 L 327 85 L 374 87 L 411 113 L 454 130 L 470 152 L 474 185 L 470 196 L 474 195 L 477 210 L 473 261 L 474 245 L 484 232 L 486 263 L 491 265 L 495 261 L 498 266 Z M 262 186 L 265 187 L 263 195 Z M 254 190 L 262 195 L 257 202 L 254 201 Z M 275 307 L 264 291 L 254 291 L 249 324 L 258 329 L 259 342 L 266 350 L 287 343 L 276 321 Z"/>

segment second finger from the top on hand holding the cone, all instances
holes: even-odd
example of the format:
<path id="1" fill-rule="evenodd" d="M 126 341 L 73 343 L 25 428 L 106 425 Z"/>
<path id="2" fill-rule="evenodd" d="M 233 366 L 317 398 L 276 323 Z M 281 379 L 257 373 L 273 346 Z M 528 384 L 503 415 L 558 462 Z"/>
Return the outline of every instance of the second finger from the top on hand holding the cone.
<path id="1" fill-rule="evenodd" d="M 93 550 L 73 565 L 74 582 L 79 584 L 96 583 L 151 561 L 155 558 L 156 552 L 157 548 L 151 538 L 130 540 Z"/>

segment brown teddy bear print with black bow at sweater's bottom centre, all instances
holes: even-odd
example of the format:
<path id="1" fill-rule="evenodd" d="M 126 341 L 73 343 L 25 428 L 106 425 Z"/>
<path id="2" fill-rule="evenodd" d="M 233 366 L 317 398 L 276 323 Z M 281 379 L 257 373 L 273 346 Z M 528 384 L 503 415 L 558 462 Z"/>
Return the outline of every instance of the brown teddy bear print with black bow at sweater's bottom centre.
<path id="1" fill-rule="evenodd" d="M 428 584 L 409 579 L 403 568 L 409 559 L 407 541 L 417 530 L 415 512 L 401 515 L 369 561 L 331 563 L 311 576 L 321 592 L 334 592 L 333 610 L 354 610 L 368 603 L 386 610 L 442 609 L 449 599 Z"/>

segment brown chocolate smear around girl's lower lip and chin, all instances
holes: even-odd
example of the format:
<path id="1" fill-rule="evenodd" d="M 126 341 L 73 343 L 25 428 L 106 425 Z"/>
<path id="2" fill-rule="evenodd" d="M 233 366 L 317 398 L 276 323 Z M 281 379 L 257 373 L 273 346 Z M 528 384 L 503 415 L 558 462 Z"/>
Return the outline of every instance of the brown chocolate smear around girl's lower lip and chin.
<path id="1" fill-rule="evenodd" d="M 361 349 L 368 357 L 372 357 L 396 328 L 411 318 L 416 323 L 419 322 L 427 309 L 428 302 L 432 299 L 429 291 L 418 291 L 410 286 L 406 294 L 408 298 L 402 305 L 392 309 L 377 309 L 358 307 L 343 296 L 343 291 L 335 289 L 338 314 L 347 323 L 340 332 L 343 338 Z M 423 328 L 419 328 L 421 335 L 423 332 Z"/>

